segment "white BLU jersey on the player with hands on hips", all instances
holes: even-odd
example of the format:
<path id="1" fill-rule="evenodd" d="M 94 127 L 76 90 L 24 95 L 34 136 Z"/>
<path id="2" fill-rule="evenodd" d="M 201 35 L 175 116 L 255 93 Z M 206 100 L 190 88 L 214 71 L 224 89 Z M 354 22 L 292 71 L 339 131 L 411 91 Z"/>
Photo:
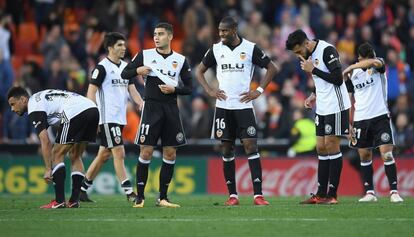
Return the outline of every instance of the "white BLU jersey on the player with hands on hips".
<path id="1" fill-rule="evenodd" d="M 254 43 L 246 39 L 243 39 L 241 44 L 233 50 L 222 42 L 213 45 L 219 88 L 227 96 L 226 100 L 216 100 L 217 108 L 253 108 L 252 101 L 240 102 L 240 94 L 250 90 L 250 82 L 254 72 L 252 62 L 254 46 Z"/>

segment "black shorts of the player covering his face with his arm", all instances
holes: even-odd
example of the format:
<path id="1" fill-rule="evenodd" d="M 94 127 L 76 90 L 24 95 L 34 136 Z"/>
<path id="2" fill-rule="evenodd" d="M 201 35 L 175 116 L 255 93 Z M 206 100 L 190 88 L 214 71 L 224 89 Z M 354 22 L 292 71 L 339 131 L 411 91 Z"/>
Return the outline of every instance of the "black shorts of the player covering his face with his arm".
<path id="1" fill-rule="evenodd" d="M 391 119 L 387 114 L 354 122 L 356 143 L 353 148 L 376 148 L 385 144 L 394 145 Z"/>

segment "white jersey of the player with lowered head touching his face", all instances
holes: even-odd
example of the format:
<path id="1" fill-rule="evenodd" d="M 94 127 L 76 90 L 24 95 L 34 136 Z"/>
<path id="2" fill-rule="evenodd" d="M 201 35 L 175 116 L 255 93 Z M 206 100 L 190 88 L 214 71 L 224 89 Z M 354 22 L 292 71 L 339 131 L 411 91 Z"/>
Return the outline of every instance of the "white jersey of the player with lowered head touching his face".
<path id="1" fill-rule="evenodd" d="M 314 51 L 312 52 L 313 65 L 323 72 L 328 72 L 323 56 L 325 48 L 332 46 L 331 44 L 319 40 Z M 332 46 L 333 47 L 333 46 Z M 334 55 L 330 55 L 331 60 L 339 60 Z M 312 74 L 316 89 L 316 113 L 319 115 L 335 114 L 351 107 L 348 91 L 345 83 L 336 86 L 329 83 L 315 74 Z"/>

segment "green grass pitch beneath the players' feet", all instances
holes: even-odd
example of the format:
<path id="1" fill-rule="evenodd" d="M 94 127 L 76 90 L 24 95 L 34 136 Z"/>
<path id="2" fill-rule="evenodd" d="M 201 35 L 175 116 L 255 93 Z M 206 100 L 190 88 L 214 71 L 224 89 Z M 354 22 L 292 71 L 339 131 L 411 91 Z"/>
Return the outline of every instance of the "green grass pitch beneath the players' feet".
<path id="1" fill-rule="evenodd" d="M 299 197 L 268 198 L 256 207 L 252 197 L 225 207 L 225 196 L 172 196 L 181 208 L 132 208 L 124 196 L 91 195 L 97 203 L 79 209 L 41 210 L 50 196 L 0 196 L 0 236 L 414 236 L 414 198 L 393 204 L 388 197 L 360 204 L 341 197 L 338 205 L 299 205 Z"/>

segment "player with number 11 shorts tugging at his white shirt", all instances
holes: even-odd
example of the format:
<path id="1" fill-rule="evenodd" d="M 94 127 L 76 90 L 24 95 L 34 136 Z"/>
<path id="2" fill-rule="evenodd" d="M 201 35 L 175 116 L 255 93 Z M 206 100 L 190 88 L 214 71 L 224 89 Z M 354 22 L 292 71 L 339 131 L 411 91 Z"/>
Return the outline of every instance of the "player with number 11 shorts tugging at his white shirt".
<path id="1" fill-rule="evenodd" d="M 133 207 L 144 207 L 144 189 L 148 179 L 148 167 L 154 147 L 161 138 L 163 162 L 160 171 L 160 207 L 180 207 L 168 200 L 177 147 L 186 144 L 177 106 L 177 95 L 191 94 L 190 66 L 181 54 L 171 50 L 173 28 L 159 23 L 154 29 L 155 48 L 138 53 L 122 72 L 122 78 L 141 75 L 145 78 L 144 106 L 135 144 L 140 145 L 137 164 L 137 198 Z M 179 84 L 181 80 L 182 84 Z"/>

